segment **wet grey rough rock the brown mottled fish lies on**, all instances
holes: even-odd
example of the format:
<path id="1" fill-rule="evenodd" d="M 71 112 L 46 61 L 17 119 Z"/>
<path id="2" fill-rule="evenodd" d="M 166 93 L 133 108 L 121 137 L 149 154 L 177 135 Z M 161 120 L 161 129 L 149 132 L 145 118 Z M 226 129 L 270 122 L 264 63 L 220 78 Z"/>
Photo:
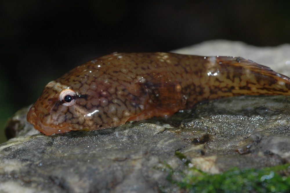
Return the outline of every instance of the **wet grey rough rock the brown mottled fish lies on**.
<path id="1" fill-rule="evenodd" d="M 290 75 L 290 45 L 258 48 L 215 40 L 178 53 L 231 55 Z M 288 58 L 287 58 L 288 57 Z M 44 136 L 26 122 L 29 107 L 6 125 L 0 145 L 0 192 L 158 192 L 164 162 L 220 173 L 290 162 L 290 97 L 240 96 L 205 101 L 173 117 L 98 131 Z"/>

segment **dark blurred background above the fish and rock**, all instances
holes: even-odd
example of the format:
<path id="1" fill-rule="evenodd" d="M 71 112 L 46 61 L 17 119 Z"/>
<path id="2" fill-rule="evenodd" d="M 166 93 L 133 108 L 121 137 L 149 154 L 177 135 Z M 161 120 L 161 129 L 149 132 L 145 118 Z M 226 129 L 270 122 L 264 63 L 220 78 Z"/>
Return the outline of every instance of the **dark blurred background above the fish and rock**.
<path id="1" fill-rule="evenodd" d="M 289 43 L 290 1 L 2 0 L 0 143 L 7 118 L 75 66 L 115 51 L 169 51 L 210 39 Z"/>

